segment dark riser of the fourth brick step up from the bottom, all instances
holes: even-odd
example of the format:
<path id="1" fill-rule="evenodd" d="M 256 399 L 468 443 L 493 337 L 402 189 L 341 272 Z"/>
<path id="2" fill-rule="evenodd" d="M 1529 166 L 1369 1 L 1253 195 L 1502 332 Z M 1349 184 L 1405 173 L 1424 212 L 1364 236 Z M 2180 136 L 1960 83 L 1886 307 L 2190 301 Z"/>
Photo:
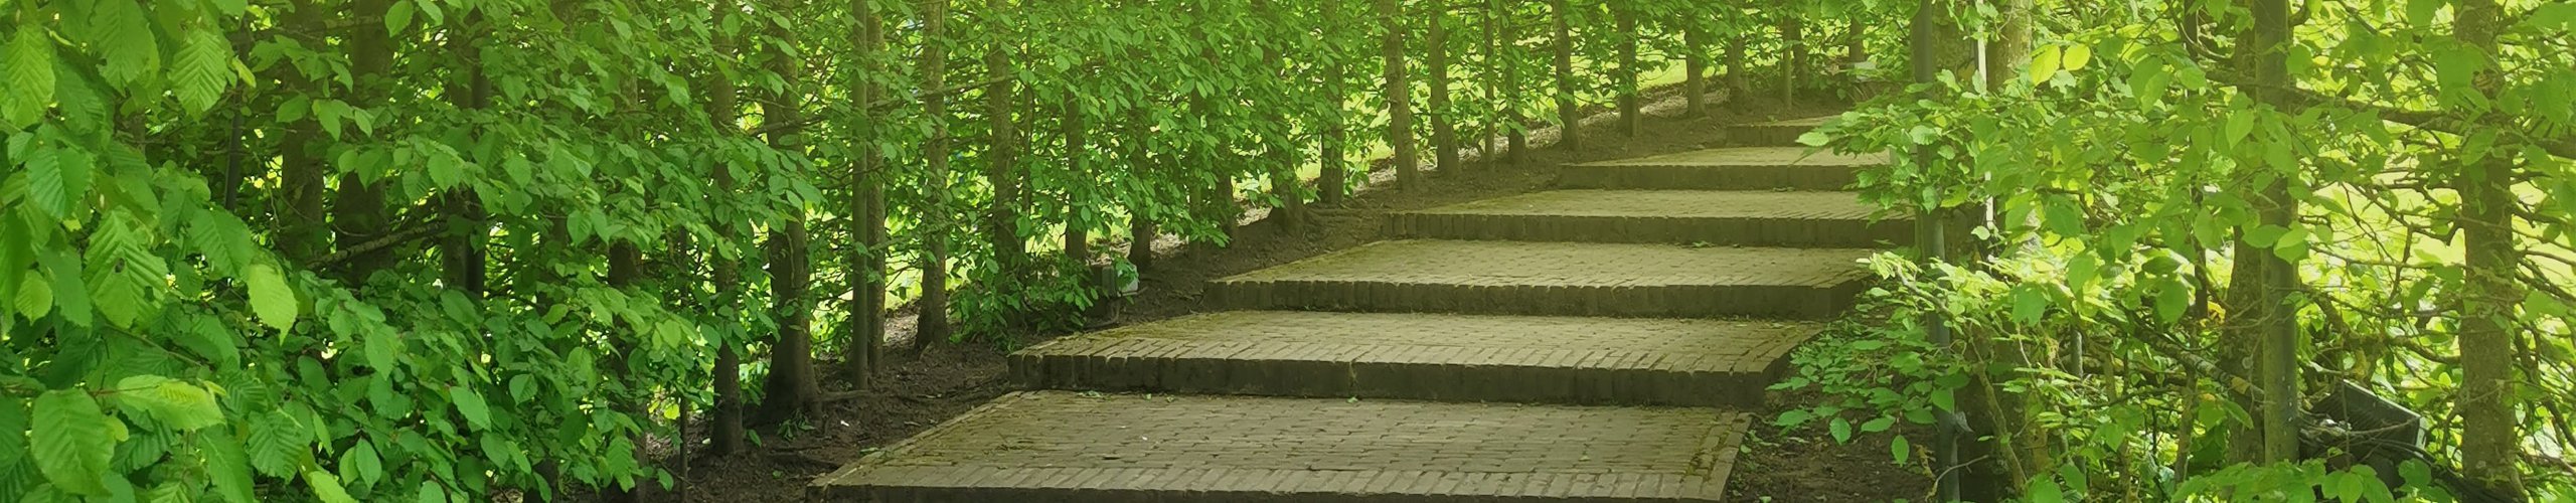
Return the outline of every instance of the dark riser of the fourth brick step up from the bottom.
<path id="1" fill-rule="evenodd" d="M 1388 232 L 1394 237 L 1430 240 L 1708 242 L 1762 248 L 1880 248 L 1911 240 L 1911 227 L 1896 219 L 1394 214 Z"/>

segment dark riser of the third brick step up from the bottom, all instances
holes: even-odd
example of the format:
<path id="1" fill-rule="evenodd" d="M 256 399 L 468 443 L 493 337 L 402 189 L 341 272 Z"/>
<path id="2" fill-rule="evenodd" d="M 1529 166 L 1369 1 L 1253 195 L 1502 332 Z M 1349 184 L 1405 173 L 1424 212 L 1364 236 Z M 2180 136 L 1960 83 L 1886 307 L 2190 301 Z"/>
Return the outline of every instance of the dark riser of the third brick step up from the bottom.
<path id="1" fill-rule="evenodd" d="M 1826 320 L 1860 281 L 1834 286 L 1455 286 L 1376 281 L 1211 281 L 1218 310 L 1461 312 L 1561 317 Z"/>

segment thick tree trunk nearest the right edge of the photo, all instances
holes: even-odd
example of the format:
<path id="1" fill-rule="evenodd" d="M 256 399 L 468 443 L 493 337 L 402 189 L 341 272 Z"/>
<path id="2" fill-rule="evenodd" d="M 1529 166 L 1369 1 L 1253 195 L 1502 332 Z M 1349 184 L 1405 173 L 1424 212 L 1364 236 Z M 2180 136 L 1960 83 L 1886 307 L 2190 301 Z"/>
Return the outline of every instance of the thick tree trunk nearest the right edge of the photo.
<path id="1" fill-rule="evenodd" d="M 2496 34 L 2504 15 L 2496 0 L 2460 0 L 2455 36 L 2478 49 L 2481 64 L 2468 116 L 2491 113 L 2504 75 L 2496 64 Z M 2519 390 L 2514 377 L 2514 310 L 2524 291 L 2517 284 L 2522 250 L 2514 245 L 2514 160 L 2506 152 L 2468 152 L 2460 183 L 2458 227 L 2468 248 L 2468 289 L 2460 294 L 2460 472 L 2494 490 L 2522 495 L 2522 423 L 2514 415 Z"/>

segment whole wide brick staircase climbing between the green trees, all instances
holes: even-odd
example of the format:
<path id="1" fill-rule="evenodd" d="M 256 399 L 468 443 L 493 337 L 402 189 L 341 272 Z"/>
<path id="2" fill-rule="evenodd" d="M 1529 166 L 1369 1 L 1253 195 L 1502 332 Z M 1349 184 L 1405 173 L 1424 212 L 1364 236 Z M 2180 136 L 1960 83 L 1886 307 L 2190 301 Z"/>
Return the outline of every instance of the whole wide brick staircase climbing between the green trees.
<path id="1" fill-rule="evenodd" d="M 1736 126 L 1788 144 L 1816 121 Z M 1850 310 L 1886 157 L 1726 147 L 1208 284 L 1218 312 L 1048 340 L 1005 395 L 814 500 L 1721 500 L 1785 356 Z M 1144 392 L 1144 395 L 1103 395 Z"/>

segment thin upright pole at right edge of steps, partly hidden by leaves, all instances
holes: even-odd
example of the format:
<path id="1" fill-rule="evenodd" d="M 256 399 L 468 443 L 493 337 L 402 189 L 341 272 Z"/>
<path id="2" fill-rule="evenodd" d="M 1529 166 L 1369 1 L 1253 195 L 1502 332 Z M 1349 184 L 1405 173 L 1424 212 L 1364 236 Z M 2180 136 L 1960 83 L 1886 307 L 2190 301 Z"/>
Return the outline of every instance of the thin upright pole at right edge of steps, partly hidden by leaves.
<path id="1" fill-rule="evenodd" d="M 1935 8 L 1937 8 L 1935 0 L 1917 0 L 1917 5 L 1914 5 L 1914 21 L 1911 21 L 1909 36 L 1906 36 L 1909 39 L 1906 46 L 1911 49 L 1911 64 L 1914 64 L 1914 83 L 1917 85 L 1932 85 L 1940 77 L 1937 75 L 1940 70 L 1932 67 L 1932 59 L 1935 59 L 1935 54 L 1932 54 L 1932 44 L 1935 44 L 1932 41 L 1932 21 L 1935 21 L 1932 15 L 1935 15 Z M 1932 93 L 1932 90 L 1924 90 L 1924 93 Z M 1932 144 L 1914 144 L 1914 165 L 1919 170 L 1924 170 L 1932 163 L 1937 163 L 1937 157 L 1932 155 Z M 1945 230 L 1947 227 L 1947 214 L 1950 212 L 1942 209 L 1940 201 L 1929 201 L 1922 209 L 1917 209 L 1917 214 L 1914 214 L 1914 248 L 1917 248 L 1917 255 L 1924 263 L 1942 263 L 1950 255 L 1950 242 L 1947 242 L 1947 230 Z M 1932 346 L 1950 348 L 1950 320 L 1942 320 L 1940 312 L 1924 312 L 1922 322 L 1924 322 L 1927 335 L 1932 338 Z M 1935 459 L 1935 467 L 1932 467 L 1935 472 L 1932 475 L 1935 475 L 1935 493 L 1940 495 L 1940 500 L 1960 500 L 1960 488 L 1958 488 L 1958 433 L 1960 433 L 1958 428 L 1960 426 L 1963 426 L 1963 420 L 1947 418 L 1947 415 L 1942 420 L 1935 420 L 1935 426 L 1932 426 L 1932 459 Z"/>

